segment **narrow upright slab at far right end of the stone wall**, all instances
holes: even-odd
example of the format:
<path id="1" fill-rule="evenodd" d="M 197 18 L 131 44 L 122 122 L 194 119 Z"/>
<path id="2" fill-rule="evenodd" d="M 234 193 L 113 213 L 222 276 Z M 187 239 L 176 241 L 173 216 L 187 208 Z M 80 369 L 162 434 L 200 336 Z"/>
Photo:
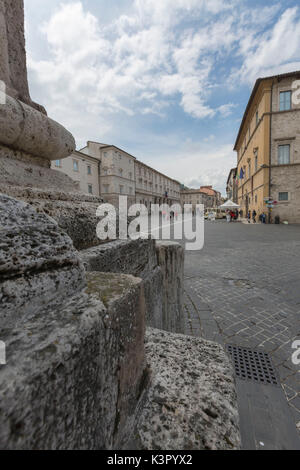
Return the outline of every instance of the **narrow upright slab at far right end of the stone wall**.
<path id="1" fill-rule="evenodd" d="M 163 273 L 162 329 L 183 333 L 184 250 L 179 243 L 158 241 L 156 251 L 158 264 Z"/>

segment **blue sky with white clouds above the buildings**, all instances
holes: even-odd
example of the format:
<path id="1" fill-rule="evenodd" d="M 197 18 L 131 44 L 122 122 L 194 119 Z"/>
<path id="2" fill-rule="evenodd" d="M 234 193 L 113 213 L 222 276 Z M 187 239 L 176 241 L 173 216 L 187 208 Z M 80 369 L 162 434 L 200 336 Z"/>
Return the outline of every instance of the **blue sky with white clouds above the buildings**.
<path id="1" fill-rule="evenodd" d="M 75 136 L 225 192 L 256 78 L 300 69 L 298 0 L 25 0 L 32 98 Z"/>

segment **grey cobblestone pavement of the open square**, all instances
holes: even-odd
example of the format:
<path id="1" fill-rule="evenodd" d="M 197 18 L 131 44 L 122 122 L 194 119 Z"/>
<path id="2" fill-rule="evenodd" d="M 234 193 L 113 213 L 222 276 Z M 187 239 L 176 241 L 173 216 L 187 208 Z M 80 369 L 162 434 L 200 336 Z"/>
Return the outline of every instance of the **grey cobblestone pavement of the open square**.
<path id="1" fill-rule="evenodd" d="M 185 263 L 186 333 L 269 353 L 300 431 L 300 226 L 206 222 Z"/>

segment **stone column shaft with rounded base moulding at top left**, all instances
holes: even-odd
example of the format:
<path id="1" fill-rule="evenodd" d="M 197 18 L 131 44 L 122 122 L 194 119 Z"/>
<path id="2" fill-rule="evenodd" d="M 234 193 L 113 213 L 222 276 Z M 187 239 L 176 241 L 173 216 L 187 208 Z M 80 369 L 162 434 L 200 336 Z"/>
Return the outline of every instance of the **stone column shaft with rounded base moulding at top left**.
<path id="1" fill-rule="evenodd" d="M 23 0 L 0 1 L 0 144 L 33 157 L 65 158 L 75 149 L 73 136 L 33 103 L 28 89 Z"/>

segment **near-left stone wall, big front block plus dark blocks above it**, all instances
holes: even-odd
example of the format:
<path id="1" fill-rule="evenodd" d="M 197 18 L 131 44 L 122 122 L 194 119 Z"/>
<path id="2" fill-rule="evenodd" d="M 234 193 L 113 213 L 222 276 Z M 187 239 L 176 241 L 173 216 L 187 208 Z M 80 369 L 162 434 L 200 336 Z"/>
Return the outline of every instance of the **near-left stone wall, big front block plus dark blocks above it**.
<path id="1" fill-rule="evenodd" d="M 122 447 L 148 381 L 141 279 L 85 279 L 55 221 L 3 195 L 0 226 L 0 448 Z"/>

